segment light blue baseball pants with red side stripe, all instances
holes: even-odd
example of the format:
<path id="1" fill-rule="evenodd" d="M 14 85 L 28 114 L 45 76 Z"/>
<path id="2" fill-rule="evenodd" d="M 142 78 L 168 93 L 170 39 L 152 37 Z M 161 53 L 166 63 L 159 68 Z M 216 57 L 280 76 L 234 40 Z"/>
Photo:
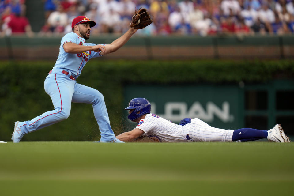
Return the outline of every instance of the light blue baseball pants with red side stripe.
<path id="1" fill-rule="evenodd" d="M 104 97 L 98 90 L 77 84 L 76 81 L 63 74 L 62 69 L 52 70 L 52 73 L 44 81 L 44 89 L 51 97 L 54 110 L 25 121 L 21 126 L 21 130 L 25 134 L 67 119 L 70 115 L 71 102 L 74 102 L 92 104 L 101 133 L 100 140 L 111 141 L 114 139 Z"/>

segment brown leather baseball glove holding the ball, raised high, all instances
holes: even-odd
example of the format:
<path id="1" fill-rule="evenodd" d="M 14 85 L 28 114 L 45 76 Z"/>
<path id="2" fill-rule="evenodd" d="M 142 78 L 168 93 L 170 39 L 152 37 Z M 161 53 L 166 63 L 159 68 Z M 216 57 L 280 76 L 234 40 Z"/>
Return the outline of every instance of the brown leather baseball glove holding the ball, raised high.
<path id="1" fill-rule="evenodd" d="M 134 27 L 135 29 L 142 29 L 147 27 L 151 23 L 152 19 L 150 19 L 150 15 L 147 9 L 140 8 L 139 10 L 135 10 L 130 27 Z"/>

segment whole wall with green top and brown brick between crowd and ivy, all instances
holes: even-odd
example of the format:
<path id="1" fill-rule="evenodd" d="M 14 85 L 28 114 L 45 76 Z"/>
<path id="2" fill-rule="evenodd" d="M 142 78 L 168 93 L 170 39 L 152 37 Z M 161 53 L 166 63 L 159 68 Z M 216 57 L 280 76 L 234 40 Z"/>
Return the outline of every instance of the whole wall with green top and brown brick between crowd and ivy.
<path id="1" fill-rule="evenodd" d="M 111 43 L 119 36 L 94 36 L 90 43 Z M 0 60 L 56 60 L 60 36 L 0 37 Z M 293 58 L 294 36 L 132 37 L 104 59 Z"/>

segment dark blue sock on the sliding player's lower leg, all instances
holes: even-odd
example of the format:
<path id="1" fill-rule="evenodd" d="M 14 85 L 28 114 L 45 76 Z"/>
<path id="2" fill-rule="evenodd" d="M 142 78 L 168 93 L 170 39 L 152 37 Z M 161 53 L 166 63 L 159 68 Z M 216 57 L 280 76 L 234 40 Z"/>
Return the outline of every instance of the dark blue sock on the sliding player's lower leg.
<path id="1" fill-rule="evenodd" d="M 254 141 L 262 138 L 267 138 L 266 130 L 258 130 L 251 128 L 237 129 L 233 132 L 233 141 L 240 140 L 241 142 Z"/>

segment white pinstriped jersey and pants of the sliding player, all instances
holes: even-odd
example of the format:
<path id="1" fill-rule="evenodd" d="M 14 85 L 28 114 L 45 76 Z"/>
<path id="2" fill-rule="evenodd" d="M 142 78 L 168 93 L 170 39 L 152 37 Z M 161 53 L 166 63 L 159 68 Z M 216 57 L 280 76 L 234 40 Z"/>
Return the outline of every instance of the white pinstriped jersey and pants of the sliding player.
<path id="1" fill-rule="evenodd" d="M 157 142 L 232 141 L 234 132 L 211 127 L 198 118 L 191 119 L 191 123 L 184 126 L 177 125 L 155 114 L 147 114 L 136 128 L 143 130 L 145 135 Z"/>

